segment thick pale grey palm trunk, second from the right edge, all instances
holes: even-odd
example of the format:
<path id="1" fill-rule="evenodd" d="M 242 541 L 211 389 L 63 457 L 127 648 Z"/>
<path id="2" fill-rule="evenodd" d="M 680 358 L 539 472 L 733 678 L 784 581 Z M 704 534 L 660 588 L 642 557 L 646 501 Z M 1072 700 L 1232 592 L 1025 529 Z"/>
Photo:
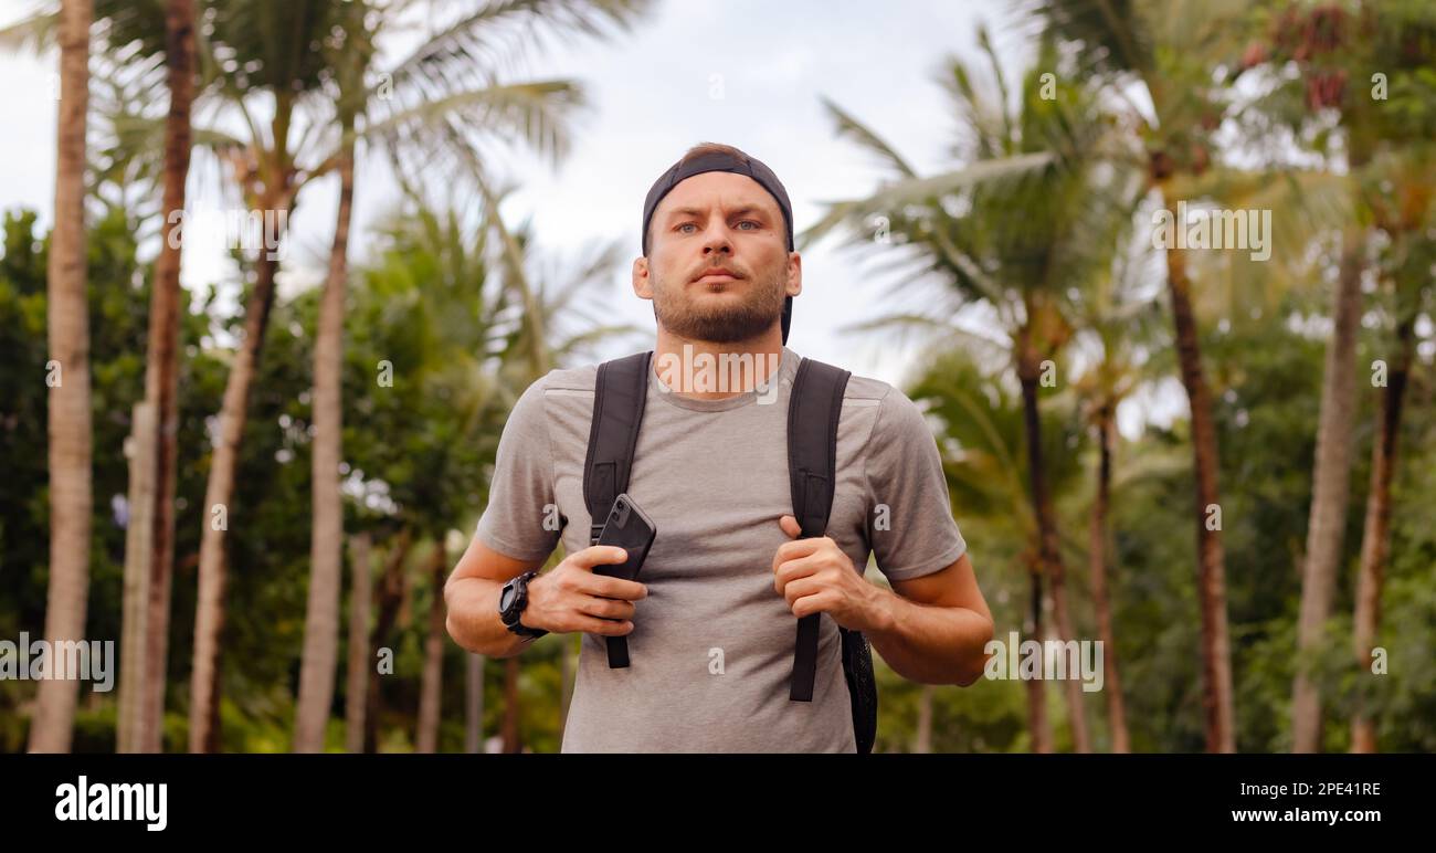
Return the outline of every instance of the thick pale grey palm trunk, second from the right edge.
<path id="1" fill-rule="evenodd" d="M 1348 228 L 1333 304 L 1334 327 L 1327 345 L 1317 426 L 1317 458 L 1311 472 L 1311 517 L 1301 573 L 1301 616 L 1297 623 L 1297 676 L 1292 685 L 1292 752 L 1321 750 L 1321 695 L 1307 663 L 1321 645 L 1337 586 L 1337 564 L 1346 539 L 1351 485 L 1351 422 L 1356 419 L 1356 336 L 1361 322 L 1361 269 L 1366 231 Z"/>

